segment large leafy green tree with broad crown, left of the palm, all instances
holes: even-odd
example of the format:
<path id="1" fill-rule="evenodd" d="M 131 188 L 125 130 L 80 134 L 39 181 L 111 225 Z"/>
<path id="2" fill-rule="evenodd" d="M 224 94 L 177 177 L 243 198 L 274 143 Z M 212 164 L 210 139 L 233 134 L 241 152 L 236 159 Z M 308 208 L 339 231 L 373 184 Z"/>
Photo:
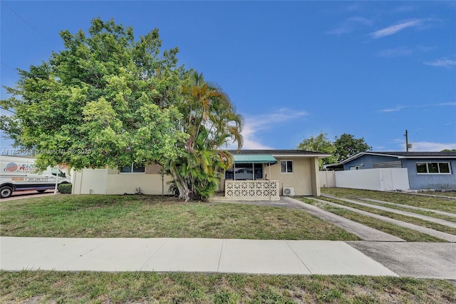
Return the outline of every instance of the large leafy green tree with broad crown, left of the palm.
<path id="1" fill-rule="evenodd" d="M 63 51 L 19 70 L 14 109 L 1 128 L 38 153 L 38 165 L 73 168 L 163 162 L 182 153 L 182 68 L 177 48 L 161 51 L 157 29 L 135 40 L 133 29 L 93 19 L 88 34 L 61 31 Z M 180 145 L 179 143 L 182 143 Z"/>

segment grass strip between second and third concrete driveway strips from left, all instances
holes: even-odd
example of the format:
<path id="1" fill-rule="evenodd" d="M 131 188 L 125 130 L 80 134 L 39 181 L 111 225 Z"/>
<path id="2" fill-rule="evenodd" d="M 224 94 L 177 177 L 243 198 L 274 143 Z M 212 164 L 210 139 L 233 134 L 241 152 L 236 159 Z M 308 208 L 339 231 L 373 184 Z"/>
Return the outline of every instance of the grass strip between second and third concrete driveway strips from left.
<path id="1" fill-rule="evenodd" d="M 355 203 L 348 203 L 346 201 L 340 201 L 340 200 L 337 200 L 337 199 L 334 199 L 334 198 L 324 198 L 323 197 L 321 199 L 323 199 L 324 201 L 331 201 L 333 203 L 338 203 L 339 205 L 348 206 L 348 207 L 351 207 L 351 208 L 356 208 L 358 210 L 362 210 L 362 211 L 378 214 L 379 216 L 386 216 L 388 218 L 393 218 L 393 219 L 398 220 L 398 221 L 403 221 L 403 222 L 406 222 L 406 223 L 412 223 L 412 224 L 415 224 L 415 225 L 418 225 L 418 226 L 422 226 L 422 227 L 426 227 L 426 228 L 430 228 L 430 229 L 434 229 L 434 230 L 438 230 L 438 231 L 442 231 L 442 232 L 445 232 L 445 233 L 450 233 L 450 234 L 456 235 L 456 228 L 444 226 L 444 225 L 441 225 L 439 223 L 432 223 L 432 222 L 428 222 L 428 221 L 422 220 L 420 218 L 413 218 L 413 217 L 410 217 L 410 216 L 404 216 L 402 214 L 393 213 L 393 212 L 390 212 L 390 211 L 378 210 L 378 209 L 371 208 L 371 207 L 361 206 L 361 205 L 358 205 L 358 204 L 355 204 Z"/>

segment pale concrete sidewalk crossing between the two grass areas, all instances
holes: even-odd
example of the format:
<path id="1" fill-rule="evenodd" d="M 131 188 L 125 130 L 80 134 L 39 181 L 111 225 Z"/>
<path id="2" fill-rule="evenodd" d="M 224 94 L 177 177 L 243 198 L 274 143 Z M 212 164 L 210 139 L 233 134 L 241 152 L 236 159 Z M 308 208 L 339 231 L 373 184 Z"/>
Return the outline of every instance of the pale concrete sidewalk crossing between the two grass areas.
<path id="1" fill-rule="evenodd" d="M 0 237 L 1 270 L 397 276 L 343 241 Z"/>

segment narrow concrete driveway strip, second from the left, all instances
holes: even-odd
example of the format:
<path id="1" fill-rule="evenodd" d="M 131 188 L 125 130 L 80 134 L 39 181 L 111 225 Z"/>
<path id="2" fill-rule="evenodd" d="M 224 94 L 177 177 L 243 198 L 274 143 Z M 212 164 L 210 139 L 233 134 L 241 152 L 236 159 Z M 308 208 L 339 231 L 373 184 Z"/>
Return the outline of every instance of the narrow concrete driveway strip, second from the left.
<path id="1" fill-rule="evenodd" d="M 442 240 L 447 240 L 448 242 L 452 242 L 452 243 L 456 242 L 456 235 L 453 235 L 453 234 L 450 234 L 450 233 L 445 233 L 445 232 L 437 231 L 437 230 L 434 230 L 434 229 L 426 228 L 426 227 L 423 227 L 423 226 L 418 226 L 418 225 L 415 225 L 415 224 L 406 223 L 406 222 L 403 222 L 403 221 L 398 221 L 398 220 L 395 220 L 393 218 L 388 218 L 387 216 L 379 216 L 378 214 L 375 214 L 375 213 L 370 213 L 370 212 L 362 211 L 362 210 L 359 210 L 359 209 L 356 209 L 356 208 L 343 206 L 343 205 L 340 205 L 338 203 L 331 203 L 331 202 L 328 202 L 328 201 L 322 201 L 322 200 L 318 200 L 316 198 L 314 198 L 314 200 L 320 201 L 321 203 L 326 203 L 326 204 L 334 206 L 334 207 L 343 208 L 343 209 L 346 209 L 346 210 L 349 210 L 349 211 L 353 211 L 353 212 L 362 214 L 363 216 L 370 216 L 371 218 L 376 218 L 376 219 L 378 219 L 380 221 L 384 221 L 384 222 L 387 222 L 387 223 L 392 223 L 392 224 L 395 224 L 395 225 L 400 226 L 400 227 L 410 228 L 410 229 L 413 229 L 413 230 L 416 230 L 416 231 L 419 231 L 419 232 L 422 232 L 422 233 L 426 233 L 428 235 L 435 236 L 436 238 L 441 238 Z"/>

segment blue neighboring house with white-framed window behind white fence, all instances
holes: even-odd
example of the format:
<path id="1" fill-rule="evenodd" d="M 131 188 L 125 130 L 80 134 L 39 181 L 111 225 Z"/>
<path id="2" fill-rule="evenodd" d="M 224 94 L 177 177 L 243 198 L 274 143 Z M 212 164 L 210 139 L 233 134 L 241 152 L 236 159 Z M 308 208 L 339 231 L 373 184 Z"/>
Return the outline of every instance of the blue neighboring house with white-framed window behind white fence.
<path id="1" fill-rule="evenodd" d="M 343 170 L 407 168 L 410 189 L 456 190 L 456 152 L 361 152 Z"/>

